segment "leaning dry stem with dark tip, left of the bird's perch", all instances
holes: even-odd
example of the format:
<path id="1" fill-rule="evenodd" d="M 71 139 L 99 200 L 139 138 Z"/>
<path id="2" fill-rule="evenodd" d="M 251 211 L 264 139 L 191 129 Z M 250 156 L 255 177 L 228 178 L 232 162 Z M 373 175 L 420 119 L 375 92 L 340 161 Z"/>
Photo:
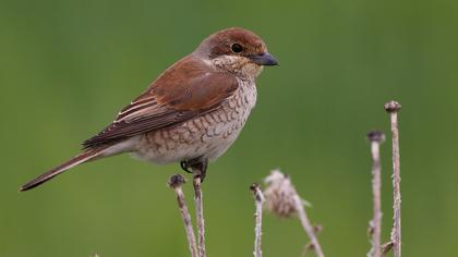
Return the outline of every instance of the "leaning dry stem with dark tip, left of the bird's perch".
<path id="1" fill-rule="evenodd" d="M 184 231 L 186 232 L 188 243 L 191 252 L 192 257 L 198 257 L 197 255 L 197 245 L 195 243 L 195 235 L 194 235 L 194 229 L 192 227 L 191 221 L 191 215 L 188 209 L 186 203 L 184 200 L 184 194 L 181 188 L 182 184 L 185 183 L 185 180 L 182 175 L 177 174 L 170 176 L 170 180 L 168 182 L 169 186 L 174 189 L 174 193 L 177 194 L 177 201 L 178 207 L 181 211 L 181 218 L 183 219 L 184 223 Z"/>

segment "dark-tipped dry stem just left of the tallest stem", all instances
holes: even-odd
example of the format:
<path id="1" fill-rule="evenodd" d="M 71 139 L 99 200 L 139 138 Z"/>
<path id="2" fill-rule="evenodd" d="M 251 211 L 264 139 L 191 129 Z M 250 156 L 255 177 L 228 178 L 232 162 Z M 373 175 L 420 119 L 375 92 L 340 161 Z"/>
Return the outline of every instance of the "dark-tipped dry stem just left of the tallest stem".
<path id="1" fill-rule="evenodd" d="M 381 155 L 379 147 L 385 140 L 385 135 L 379 131 L 367 133 L 367 139 L 371 142 L 372 154 L 372 192 L 374 201 L 374 215 L 370 222 L 370 234 L 372 248 L 367 253 L 367 257 L 381 257 L 381 233 L 382 233 L 382 196 L 381 196 Z"/>

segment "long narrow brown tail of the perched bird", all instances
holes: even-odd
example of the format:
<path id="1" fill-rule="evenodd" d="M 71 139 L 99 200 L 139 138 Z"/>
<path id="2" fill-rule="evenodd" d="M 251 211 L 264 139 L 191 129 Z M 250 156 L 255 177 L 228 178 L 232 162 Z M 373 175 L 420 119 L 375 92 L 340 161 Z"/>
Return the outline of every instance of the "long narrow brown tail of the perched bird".
<path id="1" fill-rule="evenodd" d="M 32 180 L 28 183 L 24 184 L 23 186 L 21 186 L 21 191 L 32 189 L 32 188 L 49 181 L 50 179 L 63 173 L 64 171 L 71 169 L 75 166 L 79 166 L 79 164 L 84 163 L 84 162 L 89 161 L 89 160 L 94 160 L 99 155 L 101 155 L 105 149 L 106 148 L 87 149 L 87 150 L 81 152 L 80 155 L 73 157 L 72 159 L 65 161 L 64 163 L 53 168 L 52 170 L 37 176 L 36 179 Z"/>

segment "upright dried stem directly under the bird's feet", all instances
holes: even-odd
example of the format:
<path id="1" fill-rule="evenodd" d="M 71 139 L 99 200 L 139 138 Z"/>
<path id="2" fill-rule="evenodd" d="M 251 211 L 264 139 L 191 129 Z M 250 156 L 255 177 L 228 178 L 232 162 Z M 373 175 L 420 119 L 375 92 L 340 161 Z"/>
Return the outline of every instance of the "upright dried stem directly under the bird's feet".
<path id="1" fill-rule="evenodd" d="M 205 257 L 205 220 L 204 207 L 202 200 L 202 180 L 198 174 L 194 175 L 194 201 L 195 201 L 195 218 L 197 219 L 197 249 L 198 256 Z"/>

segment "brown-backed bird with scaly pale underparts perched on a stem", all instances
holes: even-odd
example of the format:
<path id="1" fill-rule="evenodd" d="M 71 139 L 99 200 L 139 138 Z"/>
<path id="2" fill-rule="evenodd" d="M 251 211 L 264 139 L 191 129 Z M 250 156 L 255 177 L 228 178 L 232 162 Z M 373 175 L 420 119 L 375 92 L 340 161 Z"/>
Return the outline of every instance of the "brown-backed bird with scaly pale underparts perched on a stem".
<path id="1" fill-rule="evenodd" d="M 278 61 L 253 32 L 216 32 L 161 73 L 112 123 L 83 142 L 81 154 L 20 191 L 123 152 L 157 164 L 179 162 L 188 172 L 200 171 L 203 181 L 208 162 L 232 145 L 254 108 L 256 77 L 273 65 Z"/>

